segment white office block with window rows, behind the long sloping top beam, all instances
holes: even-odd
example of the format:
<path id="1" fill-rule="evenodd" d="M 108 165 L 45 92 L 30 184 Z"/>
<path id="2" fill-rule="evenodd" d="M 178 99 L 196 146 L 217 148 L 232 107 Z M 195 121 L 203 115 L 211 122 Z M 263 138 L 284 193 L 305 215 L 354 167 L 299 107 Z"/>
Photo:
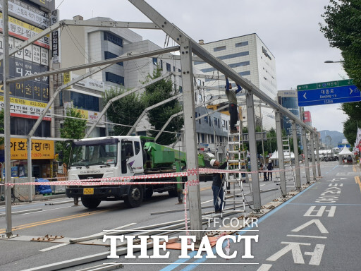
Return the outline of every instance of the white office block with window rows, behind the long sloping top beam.
<path id="1" fill-rule="evenodd" d="M 271 97 L 271 99 L 276 100 L 276 60 L 257 34 L 232 37 L 209 43 L 204 43 L 203 40 L 200 40 L 200 44 L 209 53 L 228 64 L 228 66 L 233 68 L 240 76 L 250 80 L 257 88 Z M 195 67 L 203 73 L 211 76 L 222 76 L 222 74 L 219 74 L 215 68 L 209 64 L 201 61 L 195 61 L 194 64 Z M 206 79 L 206 85 L 219 88 L 219 90 L 210 91 L 214 95 L 224 94 L 224 80 Z M 234 83 L 233 86 L 235 86 Z M 244 100 L 243 95 L 240 95 L 238 100 Z M 255 97 L 255 101 L 257 102 L 257 97 Z M 258 119 L 262 117 L 263 128 L 269 130 L 269 128 L 275 127 L 274 113 L 272 110 L 264 108 L 262 109 L 262 114 L 260 111 L 259 107 L 255 107 L 256 117 Z M 243 120 L 246 121 L 247 119 Z"/>

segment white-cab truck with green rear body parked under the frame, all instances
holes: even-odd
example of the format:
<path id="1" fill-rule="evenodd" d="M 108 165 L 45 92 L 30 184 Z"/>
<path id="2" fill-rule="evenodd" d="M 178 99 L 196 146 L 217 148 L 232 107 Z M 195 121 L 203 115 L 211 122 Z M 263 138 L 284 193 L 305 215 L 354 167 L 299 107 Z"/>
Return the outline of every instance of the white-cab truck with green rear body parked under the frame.
<path id="1" fill-rule="evenodd" d="M 209 167 L 202 155 L 198 157 L 200 167 Z M 152 142 L 152 138 L 142 136 L 112 136 L 74 140 L 71 149 L 71 161 L 68 180 L 106 179 L 107 182 L 119 176 L 144 176 L 141 179 L 130 178 L 127 182 L 159 182 L 159 184 L 68 186 L 69 198 L 81 198 L 82 205 L 97 207 L 102 200 L 124 200 L 130 207 L 138 207 L 143 198 L 150 198 L 154 192 L 168 192 L 170 196 L 179 196 L 182 181 L 186 177 L 148 179 L 149 174 L 164 174 L 182 171 L 186 167 L 185 152 Z M 201 175 L 200 181 L 212 179 L 210 175 Z M 178 186 L 176 182 L 178 181 Z"/>

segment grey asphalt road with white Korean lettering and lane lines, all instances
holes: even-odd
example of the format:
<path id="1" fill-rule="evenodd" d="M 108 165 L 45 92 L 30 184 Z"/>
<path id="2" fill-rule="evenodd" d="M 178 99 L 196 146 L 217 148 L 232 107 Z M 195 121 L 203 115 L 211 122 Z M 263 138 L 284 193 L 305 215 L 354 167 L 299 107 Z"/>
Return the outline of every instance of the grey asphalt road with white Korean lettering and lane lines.
<path id="1" fill-rule="evenodd" d="M 81 267 L 69 267 L 66 270 L 80 270 L 114 261 L 123 263 L 124 270 L 147 271 L 360 270 L 360 267 L 357 267 L 360 262 L 357 257 L 360 248 L 357 243 L 360 233 L 357 225 L 360 225 L 361 203 L 360 186 L 355 179 L 360 172 L 353 171 L 354 169 L 352 165 L 338 166 L 337 162 L 322 162 L 323 178 L 320 181 L 259 219 L 259 227 L 254 228 L 254 231 L 240 231 L 240 236 L 258 235 L 258 242 L 251 242 L 254 256 L 252 259 L 241 258 L 245 251 L 243 241 L 231 243 L 231 254 L 234 251 L 238 253 L 237 257 L 231 260 L 220 257 L 195 259 L 195 253 L 190 253 L 189 260 L 181 260 L 178 259 L 180 251 L 171 251 L 168 259 L 126 259 L 121 256 L 116 260 L 104 259 Z M 305 183 L 304 176 L 302 183 Z M 278 187 L 271 181 L 261 182 L 260 185 L 263 190 Z M 292 185 L 292 182 L 288 183 L 288 186 Z M 210 186 L 211 183 L 201 183 L 202 206 L 212 205 Z M 245 190 L 247 192 L 247 188 Z M 280 195 L 280 191 L 262 193 L 262 204 Z M 327 199 L 330 196 L 336 197 L 332 199 L 334 202 L 324 202 L 330 200 Z M 53 202 L 67 200 L 63 198 Z M 247 200 L 251 201 L 251 197 L 247 197 Z M 183 210 L 184 206 L 176 204 L 177 201 L 177 198 L 169 198 L 166 193 L 157 193 L 135 209 L 127 208 L 123 202 L 104 202 L 92 211 L 82 206 L 75 207 L 73 203 L 45 205 L 45 202 L 35 202 L 14 205 L 13 212 L 39 208 L 42 211 L 13 215 L 13 234 L 19 236 L 8 240 L 0 239 L 0 270 L 26 270 L 97 253 L 108 254 L 109 246 L 102 245 L 100 241 L 92 240 L 92 245 L 85 245 L 68 244 L 68 240 L 101 234 L 104 233 L 104 229 L 126 225 L 128 227 L 124 229 L 176 220 L 184 222 L 184 212 L 151 215 L 152 212 L 164 210 Z M 313 211 L 310 208 L 313 208 Z M 210 210 L 212 208 L 202 209 L 202 212 Z M 0 208 L 1 212 L 4 212 L 4 208 Z M 0 217 L 0 234 L 4 233 L 5 225 L 5 217 Z M 31 241 L 32 238 L 36 240 L 47 234 L 63 238 L 59 239 L 59 243 Z M 152 255 L 152 250 L 148 251 L 148 255 Z"/>

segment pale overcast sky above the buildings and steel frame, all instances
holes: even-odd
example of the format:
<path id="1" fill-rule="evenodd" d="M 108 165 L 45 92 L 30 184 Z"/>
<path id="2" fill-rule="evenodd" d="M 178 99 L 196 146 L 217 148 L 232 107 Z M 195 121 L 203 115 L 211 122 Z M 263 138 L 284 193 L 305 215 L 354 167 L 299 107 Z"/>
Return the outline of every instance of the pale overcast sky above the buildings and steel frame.
<path id="1" fill-rule="evenodd" d="M 162 16 L 193 40 L 213 42 L 257 33 L 276 59 L 278 90 L 295 89 L 307 83 L 348 78 L 338 49 L 329 47 L 319 23 L 329 0 L 147 0 Z M 61 19 L 83 16 L 109 17 L 118 21 L 149 20 L 126 0 L 56 0 Z M 165 34 L 157 30 L 135 30 L 144 40 L 164 47 Z M 169 43 L 169 46 L 175 45 Z M 317 130 L 343 131 L 347 115 L 341 104 L 305 107 Z"/>

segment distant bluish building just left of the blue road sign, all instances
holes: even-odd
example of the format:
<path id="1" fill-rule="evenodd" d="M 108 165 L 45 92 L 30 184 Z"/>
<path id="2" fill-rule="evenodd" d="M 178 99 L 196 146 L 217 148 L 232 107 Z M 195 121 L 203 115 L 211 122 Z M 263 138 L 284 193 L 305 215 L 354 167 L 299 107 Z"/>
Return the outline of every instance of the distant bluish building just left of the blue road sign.
<path id="1" fill-rule="evenodd" d="M 300 110 L 298 107 L 298 94 L 295 90 L 279 90 L 278 102 L 282 107 L 285 107 L 295 116 L 300 116 Z M 287 135 L 292 135 L 292 123 L 286 116 L 282 116 L 281 128 L 286 130 Z M 300 127 L 298 126 L 297 134 L 301 134 Z"/>

